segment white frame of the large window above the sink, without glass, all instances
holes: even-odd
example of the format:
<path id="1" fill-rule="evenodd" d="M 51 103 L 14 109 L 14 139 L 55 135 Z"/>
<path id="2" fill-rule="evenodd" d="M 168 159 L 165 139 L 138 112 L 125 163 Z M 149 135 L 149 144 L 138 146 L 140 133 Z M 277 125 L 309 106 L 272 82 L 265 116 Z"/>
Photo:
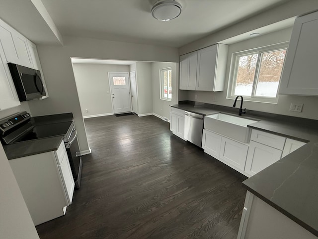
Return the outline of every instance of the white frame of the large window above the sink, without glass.
<path id="1" fill-rule="evenodd" d="M 258 83 L 258 77 L 259 77 L 259 73 L 260 73 L 260 60 L 262 57 L 262 53 L 282 50 L 282 49 L 286 48 L 286 54 L 285 54 L 285 59 L 284 59 L 284 63 L 283 63 L 283 68 L 282 68 L 282 72 L 283 72 L 288 46 L 289 46 L 289 42 L 283 42 L 283 43 L 278 43 L 278 44 L 274 44 L 274 45 L 258 47 L 258 48 L 253 48 L 253 49 L 249 49 L 249 50 L 244 50 L 244 51 L 232 53 L 227 99 L 235 99 L 237 97 L 237 95 L 235 95 L 234 93 L 235 93 L 235 86 L 236 86 L 238 67 L 239 67 L 239 57 L 251 55 L 251 54 L 258 54 L 256 68 L 255 68 L 255 75 L 254 75 L 254 80 L 253 80 L 253 86 L 252 86 L 252 94 L 250 97 L 243 96 L 244 101 L 246 100 L 246 101 L 252 101 L 252 102 L 264 102 L 264 103 L 277 104 L 278 96 L 279 96 L 278 92 L 279 92 L 279 87 L 281 84 L 282 74 L 281 74 L 280 79 L 279 79 L 276 97 L 255 96 L 256 86 Z"/>

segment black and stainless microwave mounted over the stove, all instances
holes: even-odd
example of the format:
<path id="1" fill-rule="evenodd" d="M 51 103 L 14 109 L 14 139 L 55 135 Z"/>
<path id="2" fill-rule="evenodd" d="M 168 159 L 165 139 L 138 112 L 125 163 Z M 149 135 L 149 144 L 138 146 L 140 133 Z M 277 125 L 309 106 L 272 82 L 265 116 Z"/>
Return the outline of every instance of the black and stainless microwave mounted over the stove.
<path id="1" fill-rule="evenodd" d="M 8 66 L 20 101 L 46 95 L 40 71 L 13 63 L 8 63 Z"/>

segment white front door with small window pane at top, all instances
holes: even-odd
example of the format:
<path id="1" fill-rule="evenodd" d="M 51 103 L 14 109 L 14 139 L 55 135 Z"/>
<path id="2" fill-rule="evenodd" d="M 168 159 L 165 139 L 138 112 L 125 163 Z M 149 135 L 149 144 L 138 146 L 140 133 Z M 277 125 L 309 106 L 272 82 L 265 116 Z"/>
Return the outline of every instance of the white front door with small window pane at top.
<path id="1" fill-rule="evenodd" d="M 114 114 L 131 112 L 131 97 L 128 73 L 109 72 L 108 76 Z"/>

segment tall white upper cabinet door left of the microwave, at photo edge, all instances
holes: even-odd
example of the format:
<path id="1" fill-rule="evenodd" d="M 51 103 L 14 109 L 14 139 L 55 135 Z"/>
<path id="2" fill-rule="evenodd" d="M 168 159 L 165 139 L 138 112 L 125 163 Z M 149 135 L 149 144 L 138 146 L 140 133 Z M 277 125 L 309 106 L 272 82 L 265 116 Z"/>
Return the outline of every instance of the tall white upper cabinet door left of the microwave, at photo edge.
<path id="1" fill-rule="evenodd" d="M 14 83 L 0 45 L 0 111 L 20 105 Z"/>

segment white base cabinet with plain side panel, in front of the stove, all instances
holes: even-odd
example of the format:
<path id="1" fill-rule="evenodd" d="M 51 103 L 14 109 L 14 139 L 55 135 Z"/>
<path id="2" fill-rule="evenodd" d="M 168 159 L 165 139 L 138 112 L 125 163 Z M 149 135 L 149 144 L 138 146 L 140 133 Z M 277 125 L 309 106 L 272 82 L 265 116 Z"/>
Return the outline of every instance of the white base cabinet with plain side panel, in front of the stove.
<path id="1" fill-rule="evenodd" d="M 65 215 L 75 183 L 63 140 L 56 151 L 9 163 L 35 226 Z"/>

